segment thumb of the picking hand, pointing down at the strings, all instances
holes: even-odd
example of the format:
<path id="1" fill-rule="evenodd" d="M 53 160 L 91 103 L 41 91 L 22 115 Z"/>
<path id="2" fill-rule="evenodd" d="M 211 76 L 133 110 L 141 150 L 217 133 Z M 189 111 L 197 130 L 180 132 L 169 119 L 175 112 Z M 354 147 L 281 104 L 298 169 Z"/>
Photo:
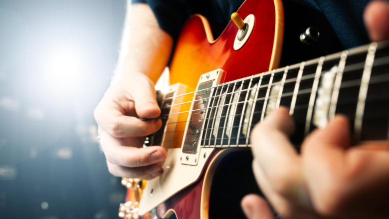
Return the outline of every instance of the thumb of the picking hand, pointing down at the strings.
<path id="1" fill-rule="evenodd" d="M 140 118 L 156 118 L 161 114 L 161 109 L 157 103 L 157 94 L 154 83 L 144 75 L 136 75 L 131 90 L 131 96 L 135 102 L 135 110 Z"/>

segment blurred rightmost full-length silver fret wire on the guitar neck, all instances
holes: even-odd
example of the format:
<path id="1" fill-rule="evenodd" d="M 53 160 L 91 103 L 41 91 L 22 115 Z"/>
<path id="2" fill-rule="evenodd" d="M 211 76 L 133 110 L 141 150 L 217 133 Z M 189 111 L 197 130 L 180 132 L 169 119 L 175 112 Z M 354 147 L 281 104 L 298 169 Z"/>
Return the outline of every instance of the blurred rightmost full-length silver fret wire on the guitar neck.
<path id="1" fill-rule="evenodd" d="M 358 95 L 357 110 L 355 113 L 354 122 L 354 140 L 358 141 L 361 138 L 362 121 L 365 111 L 366 96 L 368 94 L 370 75 L 372 73 L 374 56 L 377 49 L 377 43 L 371 43 L 368 54 L 366 56 L 365 67 L 362 74 L 361 87 Z"/>

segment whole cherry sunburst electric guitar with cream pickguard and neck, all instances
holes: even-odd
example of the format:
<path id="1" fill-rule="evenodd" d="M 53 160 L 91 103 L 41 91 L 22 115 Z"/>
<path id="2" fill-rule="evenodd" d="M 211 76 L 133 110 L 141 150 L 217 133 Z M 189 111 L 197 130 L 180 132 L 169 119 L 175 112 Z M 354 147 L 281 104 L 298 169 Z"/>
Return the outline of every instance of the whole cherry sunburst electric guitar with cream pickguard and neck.
<path id="1" fill-rule="evenodd" d="M 389 138 L 388 42 L 278 68 L 285 63 L 282 2 L 247 0 L 238 13 L 238 28 L 230 22 L 217 39 L 201 15 L 184 25 L 172 85 L 159 94 L 163 127 L 145 142 L 167 149 L 164 173 L 147 184 L 123 179 L 130 189 L 120 217 L 243 217 L 241 198 L 260 194 L 251 130 L 281 105 L 296 121 L 296 144 L 338 113 L 350 118 L 355 142 Z M 326 40 L 320 28 L 304 28 L 295 37 L 302 47 L 311 49 L 320 34 Z"/>

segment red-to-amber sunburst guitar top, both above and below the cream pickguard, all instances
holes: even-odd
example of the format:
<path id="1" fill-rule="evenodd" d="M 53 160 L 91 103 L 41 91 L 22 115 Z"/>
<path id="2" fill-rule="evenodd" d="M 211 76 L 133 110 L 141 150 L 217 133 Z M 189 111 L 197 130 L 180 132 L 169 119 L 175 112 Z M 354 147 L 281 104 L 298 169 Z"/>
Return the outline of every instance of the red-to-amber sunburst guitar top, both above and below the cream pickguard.
<path id="1" fill-rule="evenodd" d="M 185 23 L 169 66 L 170 84 L 185 84 L 187 86 L 186 93 L 191 93 L 195 91 L 200 75 L 211 70 L 218 68 L 224 70 L 220 81 L 222 83 L 278 67 L 284 31 L 282 1 L 248 0 L 240 6 L 237 12 L 243 19 L 249 14 L 254 14 L 256 18 L 248 41 L 239 50 L 233 48 L 238 28 L 232 21 L 228 23 L 217 39 L 213 38 L 211 27 L 204 16 L 196 14 Z M 192 99 L 193 95 L 186 95 L 183 102 L 190 103 Z M 181 112 L 184 113 L 179 115 L 171 148 L 181 148 L 189 115 L 185 112 L 189 111 L 190 107 L 191 104 L 181 106 Z M 208 218 L 209 205 L 207 202 L 209 202 L 212 176 L 215 168 L 221 159 L 227 156 L 228 152 L 228 150 L 224 150 L 222 153 L 221 151 L 214 153 L 210 158 L 212 162 L 206 165 L 205 170 L 208 171 L 203 172 L 207 172 L 207 174 L 202 174 L 196 183 L 162 203 L 157 207 L 156 213 L 146 214 L 143 218 L 147 219 L 152 215 L 157 215 L 160 218 L 169 218 L 169 216 L 175 216 L 179 219 Z M 244 153 L 246 154 L 247 151 Z M 217 159 L 214 159 L 215 157 Z M 250 166 L 247 162 L 246 165 Z M 255 186 L 255 183 L 253 185 Z M 207 187 L 205 194 L 203 186 Z M 128 190 L 126 202 L 130 200 L 134 202 L 133 193 L 133 190 Z M 236 199 L 236 197 L 234 198 Z M 239 201 L 235 200 L 235 205 L 239 206 Z M 241 215 L 242 212 L 238 206 L 238 214 Z"/>

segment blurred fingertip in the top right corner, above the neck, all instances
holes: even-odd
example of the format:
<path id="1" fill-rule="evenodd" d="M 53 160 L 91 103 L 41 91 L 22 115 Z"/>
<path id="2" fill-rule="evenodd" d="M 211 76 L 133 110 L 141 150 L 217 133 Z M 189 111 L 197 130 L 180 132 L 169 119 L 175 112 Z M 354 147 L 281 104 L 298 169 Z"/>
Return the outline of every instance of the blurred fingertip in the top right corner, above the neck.
<path id="1" fill-rule="evenodd" d="M 372 41 L 389 39 L 389 3 L 375 0 L 366 6 L 364 20 Z"/>

